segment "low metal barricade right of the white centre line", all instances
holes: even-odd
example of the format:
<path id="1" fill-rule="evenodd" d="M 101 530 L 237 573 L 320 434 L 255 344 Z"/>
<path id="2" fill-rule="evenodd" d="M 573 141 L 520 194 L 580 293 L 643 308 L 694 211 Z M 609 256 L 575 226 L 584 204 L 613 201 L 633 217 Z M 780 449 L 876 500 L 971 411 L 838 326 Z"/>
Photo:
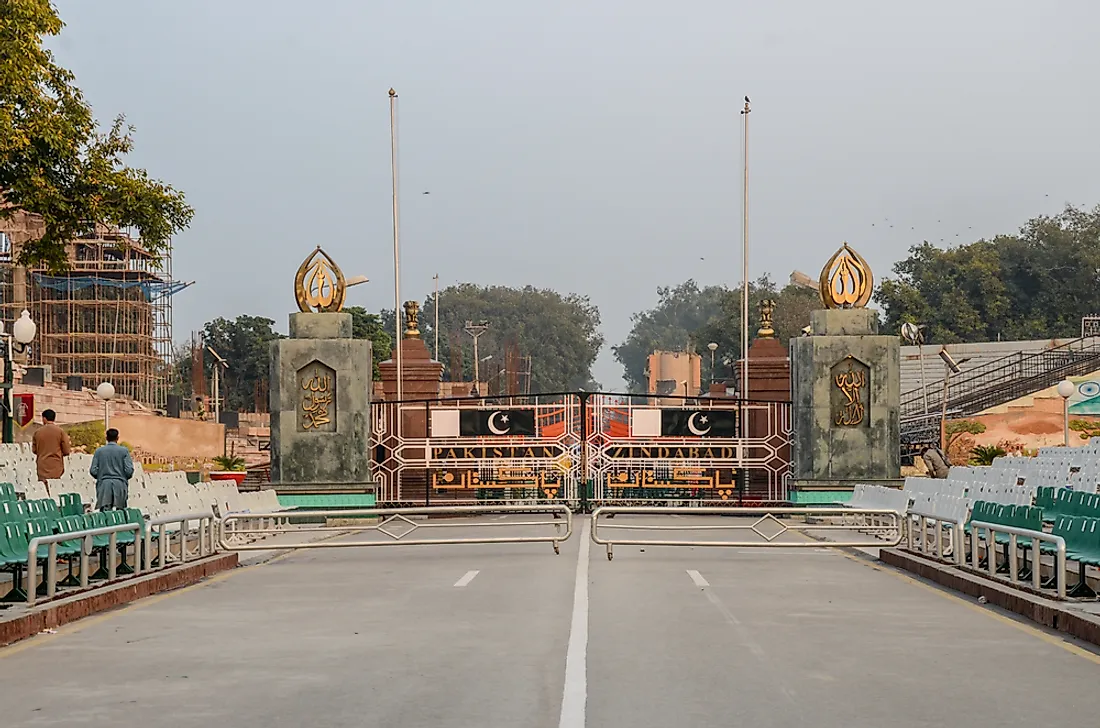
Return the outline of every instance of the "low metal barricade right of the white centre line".
<path id="1" fill-rule="evenodd" d="M 686 521 L 664 520 L 660 523 L 608 523 L 612 516 L 727 516 L 728 521 L 704 525 Z M 734 520 L 736 517 L 741 517 Z M 751 522 L 741 522 L 746 517 L 755 517 Z M 729 540 L 669 540 L 669 539 L 615 539 L 605 536 L 608 531 L 751 531 L 755 539 Z M 827 540 L 815 538 L 811 532 L 832 534 L 844 532 L 868 538 Z M 803 540 L 778 540 L 785 533 L 803 537 Z M 894 547 L 901 542 L 902 521 L 897 511 L 875 508 L 743 508 L 743 507 L 660 507 L 660 506 L 603 506 L 592 512 L 592 540 L 607 547 L 607 559 L 614 558 L 615 545 L 653 547 L 737 547 L 737 548 L 856 548 Z"/>

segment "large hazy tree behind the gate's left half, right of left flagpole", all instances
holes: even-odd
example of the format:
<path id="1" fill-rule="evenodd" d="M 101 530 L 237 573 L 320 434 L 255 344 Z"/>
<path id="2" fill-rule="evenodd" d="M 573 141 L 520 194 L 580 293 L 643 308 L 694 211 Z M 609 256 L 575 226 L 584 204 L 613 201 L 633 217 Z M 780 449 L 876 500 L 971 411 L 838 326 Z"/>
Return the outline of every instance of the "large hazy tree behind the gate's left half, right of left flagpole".
<path id="1" fill-rule="evenodd" d="M 435 345 L 435 294 L 426 297 L 420 310 L 420 331 L 430 350 Z M 385 312 L 382 319 L 385 326 Z M 604 338 L 598 332 L 600 310 L 585 296 L 532 286 L 462 284 L 440 290 L 440 361 L 451 361 L 452 333 L 459 332 L 455 340 L 462 345 L 463 371 L 448 371 L 452 380 L 473 379 L 473 346 L 470 337 L 461 333 L 466 321 L 490 322 L 488 331 L 477 341 L 479 355 L 492 357 L 480 367 L 482 380 L 506 371 L 512 343 L 519 354 L 531 356 L 532 393 L 591 388 L 596 384 L 592 380 L 592 364 Z M 393 323 L 392 318 L 388 323 Z"/>

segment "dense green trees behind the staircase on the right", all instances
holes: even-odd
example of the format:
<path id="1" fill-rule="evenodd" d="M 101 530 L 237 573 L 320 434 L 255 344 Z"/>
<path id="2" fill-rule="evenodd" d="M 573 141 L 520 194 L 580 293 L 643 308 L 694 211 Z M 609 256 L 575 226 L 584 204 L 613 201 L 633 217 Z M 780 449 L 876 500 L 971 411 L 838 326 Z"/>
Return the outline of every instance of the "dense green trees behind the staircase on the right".
<path id="1" fill-rule="evenodd" d="M 935 343 L 1080 335 L 1100 311 L 1100 207 L 1067 207 L 1015 235 L 910 249 L 876 291 L 887 331 L 910 321 Z"/>

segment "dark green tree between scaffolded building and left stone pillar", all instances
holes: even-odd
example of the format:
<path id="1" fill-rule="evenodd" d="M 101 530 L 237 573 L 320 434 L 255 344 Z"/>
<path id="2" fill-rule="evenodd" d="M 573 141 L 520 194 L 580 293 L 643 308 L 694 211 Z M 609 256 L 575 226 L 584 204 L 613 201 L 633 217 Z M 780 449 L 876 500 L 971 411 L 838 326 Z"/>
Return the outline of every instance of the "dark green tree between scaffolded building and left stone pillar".
<path id="1" fill-rule="evenodd" d="M 221 384 L 224 409 L 253 409 L 257 384 L 270 376 L 271 342 L 283 338 L 272 328 L 274 324 L 262 316 L 239 316 L 232 321 L 217 318 L 202 328 L 206 345 L 229 365 Z M 202 363 L 209 378 L 212 357 L 204 356 Z"/>

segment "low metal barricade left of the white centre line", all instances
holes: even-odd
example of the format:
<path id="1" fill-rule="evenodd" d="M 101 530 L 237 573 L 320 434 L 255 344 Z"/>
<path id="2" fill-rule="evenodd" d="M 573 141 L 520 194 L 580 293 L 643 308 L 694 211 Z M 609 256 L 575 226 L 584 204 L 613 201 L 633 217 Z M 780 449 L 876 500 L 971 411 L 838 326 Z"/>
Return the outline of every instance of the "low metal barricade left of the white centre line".
<path id="1" fill-rule="evenodd" d="M 494 520 L 477 521 L 436 521 L 436 520 L 414 520 L 415 516 L 490 516 L 507 514 L 552 514 L 552 519 L 546 520 Z M 345 523 L 340 526 L 295 526 L 295 519 L 316 520 L 330 519 L 378 519 L 364 523 Z M 286 526 L 274 525 L 277 520 L 286 522 Z M 258 521 L 260 528 L 246 528 L 240 531 L 244 536 L 256 534 L 286 534 L 286 533 L 354 533 L 354 532 L 376 532 L 388 537 L 388 541 L 345 541 L 345 540 L 315 540 L 300 542 L 278 542 L 278 543 L 234 543 L 233 528 L 238 523 L 248 521 Z M 396 527 L 403 530 L 396 532 Z M 546 536 L 476 536 L 468 538 L 438 538 L 438 539 L 408 539 L 409 533 L 421 530 L 455 529 L 455 528 L 518 528 L 552 526 L 553 533 Z M 388 530 L 387 530 L 387 527 Z M 564 530 L 562 530 L 564 527 Z M 361 508 L 361 509 L 337 509 L 337 510 L 305 510 L 305 511 L 273 511 L 263 514 L 228 514 L 221 520 L 221 548 L 227 551 L 271 551 L 273 549 L 334 549 L 355 547 L 386 547 L 386 545 L 433 545 L 449 543 L 550 543 L 554 553 L 560 553 L 562 541 L 569 540 L 573 534 L 573 511 L 564 504 L 527 505 L 527 506 L 430 506 L 421 508 Z"/>

